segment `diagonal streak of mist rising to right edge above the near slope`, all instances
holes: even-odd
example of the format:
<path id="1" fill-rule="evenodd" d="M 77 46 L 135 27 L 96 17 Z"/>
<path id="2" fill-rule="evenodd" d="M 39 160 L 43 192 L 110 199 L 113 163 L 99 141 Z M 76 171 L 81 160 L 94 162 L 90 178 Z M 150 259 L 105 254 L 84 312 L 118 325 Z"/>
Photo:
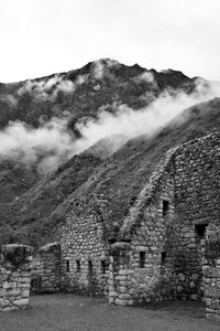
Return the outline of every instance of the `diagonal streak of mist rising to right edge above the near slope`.
<path id="1" fill-rule="evenodd" d="M 140 135 L 153 135 L 184 109 L 220 96 L 220 85 L 205 86 L 206 81 L 198 81 L 197 88 L 190 95 L 185 92 L 166 90 L 150 106 L 133 110 L 127 105 L 119 105 L 114 115 L 101 111 L 97 120 L 80 125 L 82 139 L 76 141 L 77 150 L 82 151 L 96 141 L 111 135 L 123 135 L 128 139 Z M 180 118 L 179 118 L 180 120 Z"/>

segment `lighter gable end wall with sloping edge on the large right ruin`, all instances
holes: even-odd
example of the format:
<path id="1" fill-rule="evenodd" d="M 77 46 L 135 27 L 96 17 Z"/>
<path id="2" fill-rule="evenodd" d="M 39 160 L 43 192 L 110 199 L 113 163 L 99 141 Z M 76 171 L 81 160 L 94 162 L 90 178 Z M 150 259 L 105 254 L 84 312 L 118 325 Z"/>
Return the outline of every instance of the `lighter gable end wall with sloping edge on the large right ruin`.
<path id="1" fill-rule="evenodd" d="M 112 245 L 109 301 L 135 305 L 176 298 L 173 237 L 175 150 L 160 162 Z"/>

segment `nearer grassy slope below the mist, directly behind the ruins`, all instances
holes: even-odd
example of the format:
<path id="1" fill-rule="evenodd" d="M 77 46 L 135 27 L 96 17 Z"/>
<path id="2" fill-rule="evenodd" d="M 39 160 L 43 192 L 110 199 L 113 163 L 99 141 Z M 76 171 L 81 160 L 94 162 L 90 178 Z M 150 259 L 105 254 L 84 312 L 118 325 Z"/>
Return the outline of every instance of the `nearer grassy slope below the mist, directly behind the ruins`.
<path id="1" fill-rule="evenodd" d="M 19 200 L 2 205 L 3 238 L 43 244 L 73 203 L 92 194 L 101 194 L 108 201 L 110 222 L 117 231 L 161 157 L 179 143 L 219 128 L 220 98 L 215 98 L 186 109 L 180 121 L 175 119 L 151 138 L 141 136 L 128 141 L 107 159 L 90 150 L 75 156 Z"/>

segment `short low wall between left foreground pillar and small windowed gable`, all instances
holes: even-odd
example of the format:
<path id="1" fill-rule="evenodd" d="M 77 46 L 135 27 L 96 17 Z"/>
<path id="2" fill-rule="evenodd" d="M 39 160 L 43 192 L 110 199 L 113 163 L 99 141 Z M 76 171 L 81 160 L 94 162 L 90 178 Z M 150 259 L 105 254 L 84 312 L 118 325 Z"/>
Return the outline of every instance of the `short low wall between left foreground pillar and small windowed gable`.
<path id="1" fill-rule="evenodd" d="M 61 282 L 61 245 L 51 243 L 40 248 L 33 259 L 31 292 L 59 291 Z"/>

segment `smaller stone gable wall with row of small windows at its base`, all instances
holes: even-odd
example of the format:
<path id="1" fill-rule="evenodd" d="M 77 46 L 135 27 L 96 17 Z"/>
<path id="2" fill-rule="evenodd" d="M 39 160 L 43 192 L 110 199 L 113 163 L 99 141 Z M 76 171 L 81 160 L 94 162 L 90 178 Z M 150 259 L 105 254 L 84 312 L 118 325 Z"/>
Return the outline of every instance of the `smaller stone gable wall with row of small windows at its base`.
<path id="1" fill-rule="evenodd" d="M 109 247 L 105 216 L 102 197 L 75 201 L 59 232 L 63 290 L 94 296 L 108 291 Z"/>

